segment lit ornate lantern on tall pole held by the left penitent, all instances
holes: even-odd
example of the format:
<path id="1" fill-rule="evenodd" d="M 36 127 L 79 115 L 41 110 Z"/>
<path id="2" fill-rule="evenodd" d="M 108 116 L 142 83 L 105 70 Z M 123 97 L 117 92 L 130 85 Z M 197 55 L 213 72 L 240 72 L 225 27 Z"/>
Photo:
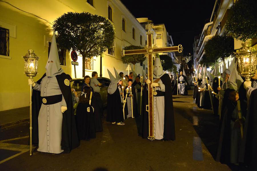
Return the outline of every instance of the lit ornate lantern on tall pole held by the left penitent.
<path id="1" fill-rule="evenodd" d="M 34 50 L 28 50 L 24 59 L 24 74 L 26 74 L 30 79 L 33 79 L 37 73 L 37 66 L 39 57 L 34 53 Z M 30 145 L 30 156 L 32 156 L 32 85 L 30 85 L 30 109 L 29 109 L 29 130 L 30 130 L 30 138 L 29 138 L 29 145 Z"/>

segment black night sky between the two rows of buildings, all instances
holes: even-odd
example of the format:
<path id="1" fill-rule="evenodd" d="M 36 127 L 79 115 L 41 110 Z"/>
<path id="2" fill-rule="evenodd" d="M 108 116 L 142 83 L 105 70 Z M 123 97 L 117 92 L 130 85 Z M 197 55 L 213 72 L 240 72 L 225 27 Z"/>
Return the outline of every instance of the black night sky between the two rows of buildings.
<path id="1" fill-rule="evenodd" d="M 194 36 L 210 22 L 215 3 L 215 0 L 121 1 L 136 18 L 147 17 L 154 24 L 165 24 L 174 46 L 182 44 L 184 47 L 184 55 L 189 52 L 192 55 Z"/>

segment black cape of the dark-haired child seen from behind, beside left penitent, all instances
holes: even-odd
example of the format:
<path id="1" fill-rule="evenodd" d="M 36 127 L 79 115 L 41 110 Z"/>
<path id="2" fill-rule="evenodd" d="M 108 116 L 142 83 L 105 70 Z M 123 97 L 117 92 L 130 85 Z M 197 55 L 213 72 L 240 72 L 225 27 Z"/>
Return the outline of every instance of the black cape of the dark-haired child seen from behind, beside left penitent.
<path id="1" fill-rule="evenodd" d="M 89 112 L 87 111 L 88 107 L 90 108 Z M 76 123 L 80 140 L 89 140 L 96 137 L 94 112 L 89 103 L 78 104 Z"/>

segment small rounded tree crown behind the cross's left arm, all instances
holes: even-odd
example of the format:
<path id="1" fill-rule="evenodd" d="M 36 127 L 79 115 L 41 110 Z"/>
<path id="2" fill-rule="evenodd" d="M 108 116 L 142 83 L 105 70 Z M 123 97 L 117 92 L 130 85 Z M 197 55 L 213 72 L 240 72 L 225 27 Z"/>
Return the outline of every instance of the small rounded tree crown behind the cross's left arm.
<path id="1" fill-rule="evenodd" d="M 135 49 L 143 49 L 143 47 L 130 45 L 124 48 L 124 50 L 135 50 Z M 132 63 L 133 65 L 135 65 L 136 63 L 143 62 L 144 60 L 145 60 L 144 54 L 121 56 L 121 61 L 125 64 Z"/>

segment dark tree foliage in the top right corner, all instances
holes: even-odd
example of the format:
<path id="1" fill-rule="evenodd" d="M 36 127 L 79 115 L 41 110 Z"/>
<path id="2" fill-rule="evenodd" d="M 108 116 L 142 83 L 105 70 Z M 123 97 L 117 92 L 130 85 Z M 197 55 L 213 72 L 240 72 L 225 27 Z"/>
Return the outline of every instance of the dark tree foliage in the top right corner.
<path id="1" fill-rule="evenodd" d="M 226 29 L 236 40 L 257 38 L 257 1 L 237 0 L 230 8 Z"/>

